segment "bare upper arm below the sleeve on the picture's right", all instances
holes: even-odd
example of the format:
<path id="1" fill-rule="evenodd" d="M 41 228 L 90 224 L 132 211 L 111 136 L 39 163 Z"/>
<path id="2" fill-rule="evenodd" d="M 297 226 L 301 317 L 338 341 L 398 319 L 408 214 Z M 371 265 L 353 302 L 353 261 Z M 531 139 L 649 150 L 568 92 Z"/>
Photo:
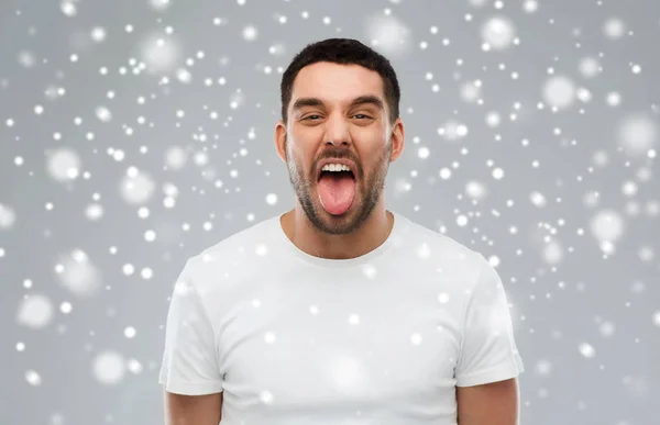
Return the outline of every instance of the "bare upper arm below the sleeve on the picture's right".
<path id="1" fill-rule="evenodd" d="M 459 425 L 518 425 L 516 378 L 474 387 L 457 387 Z"/>

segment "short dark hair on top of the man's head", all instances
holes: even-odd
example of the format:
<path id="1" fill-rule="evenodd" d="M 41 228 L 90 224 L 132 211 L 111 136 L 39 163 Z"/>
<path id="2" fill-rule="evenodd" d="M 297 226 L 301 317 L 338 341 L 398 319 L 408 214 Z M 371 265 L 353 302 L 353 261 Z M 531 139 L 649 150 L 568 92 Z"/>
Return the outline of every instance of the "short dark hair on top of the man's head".
<path id="1" fill-rule="evenodd" d="M 320 42 L 308 44 L 292 60 L 288 68 L 282 76 L 279 85 L 279 94 L 282 100 L 282 120 L 287 121 L 287 109 L 292 101 L 294 91 L 294 80 L 300 71 L 308 65 L 319 61 L 329 61 L 340 65 L 360 65 L 364 68 L 376 71 L 383 78 L 383 88 L 385 91 L 385 101 L 389 107 L 389 122 L 393 123 L 399 116 L 400 90 L 396 72 L 389 64 L 389 60 L 353 38 L 327 38 Z"/>

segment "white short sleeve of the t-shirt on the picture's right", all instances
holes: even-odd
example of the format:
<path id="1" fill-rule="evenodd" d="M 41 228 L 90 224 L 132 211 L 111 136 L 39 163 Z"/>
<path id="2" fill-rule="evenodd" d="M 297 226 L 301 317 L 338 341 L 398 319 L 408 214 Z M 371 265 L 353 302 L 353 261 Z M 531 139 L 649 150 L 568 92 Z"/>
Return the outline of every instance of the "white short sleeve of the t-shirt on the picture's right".
<path id="1" fill-rule="evenodd" d="M 479 261 L 477 280 L 465 307 L 457 387 L 503 381 L 525 370 L 502 280 L 481 254 Z"/>

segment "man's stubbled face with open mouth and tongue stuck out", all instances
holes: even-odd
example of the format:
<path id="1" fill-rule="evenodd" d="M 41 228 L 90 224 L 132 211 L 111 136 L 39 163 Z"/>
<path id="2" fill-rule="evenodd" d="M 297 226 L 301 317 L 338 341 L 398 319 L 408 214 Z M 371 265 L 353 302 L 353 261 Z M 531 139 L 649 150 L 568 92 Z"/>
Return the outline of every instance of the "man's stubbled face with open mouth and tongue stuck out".
<path id="1" fill-rule="evenodd" d="M 360 97 L 373 97 L 382 105 L 353 103 Z M 318 102 L 300 102 L 304 99 Z M 403 124 L 388 122 L 381 76 L 355 65 L 317 63 L 302 68 L 294 82 L 286 133 L 277 130 L 289 180 L 311 224 L 336 235 L 361 227 L 378 204 L 389 163 L 396 159 L 393 142 L 396 157 L 403 150 Z M 327 158 L 351 160 L 353 181 L 344 177 L 340 184 L 327 172 L 321 181 L 319 163 Z M 337 192 L 344 193 L 344 205 L 350 206 L 330 213 L 331 193 Z"/>

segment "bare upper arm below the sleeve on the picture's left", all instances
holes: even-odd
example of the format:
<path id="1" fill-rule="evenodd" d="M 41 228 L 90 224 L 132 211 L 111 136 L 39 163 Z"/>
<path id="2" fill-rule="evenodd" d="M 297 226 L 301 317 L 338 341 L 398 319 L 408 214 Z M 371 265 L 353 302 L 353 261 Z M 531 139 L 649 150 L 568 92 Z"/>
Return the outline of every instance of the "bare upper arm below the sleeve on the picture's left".
<path id="1" fill-rule="evenodd" d="M 183 395 L 164 391 L 165 425 L 218 425 L 222 418 L 222 393 Z"/>

